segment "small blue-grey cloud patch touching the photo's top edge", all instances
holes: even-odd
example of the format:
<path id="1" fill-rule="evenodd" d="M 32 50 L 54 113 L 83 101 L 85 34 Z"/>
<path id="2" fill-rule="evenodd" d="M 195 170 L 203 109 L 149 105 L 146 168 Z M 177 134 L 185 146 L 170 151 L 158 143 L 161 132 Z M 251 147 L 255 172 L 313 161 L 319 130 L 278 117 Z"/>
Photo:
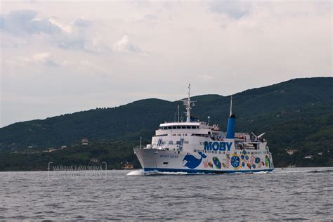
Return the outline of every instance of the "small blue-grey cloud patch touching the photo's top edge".
<path id="1" fill-rule="evenodd" d="M 213 0 L 209 2 L 209 9 L 214 13 L 223 13 L 230 18 L 240 19 L 249 14 L 251 4 L 248 1 L 240 0 Z"/>

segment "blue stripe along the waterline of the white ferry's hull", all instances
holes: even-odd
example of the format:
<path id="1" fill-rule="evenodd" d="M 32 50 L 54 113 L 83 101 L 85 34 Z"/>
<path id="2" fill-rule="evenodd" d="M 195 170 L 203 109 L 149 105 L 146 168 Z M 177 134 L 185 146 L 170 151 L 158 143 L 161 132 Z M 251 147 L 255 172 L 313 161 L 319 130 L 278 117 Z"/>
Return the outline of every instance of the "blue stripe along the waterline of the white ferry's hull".
<path id="1" fill-rule="evenodd" d="M 145 168 L 145 172 L 159 171 L 159 172 L 183 172 L 190 174 L 234 174 L 234 173 L 256 173 L 261 171 L 271 172 L 274 169 L 256 169 L 256 170 L 237 170 L 237 171 L 223 171 L 223 170 L 206 170 L 206 169 L 166 169 L 166 168 Z"/>

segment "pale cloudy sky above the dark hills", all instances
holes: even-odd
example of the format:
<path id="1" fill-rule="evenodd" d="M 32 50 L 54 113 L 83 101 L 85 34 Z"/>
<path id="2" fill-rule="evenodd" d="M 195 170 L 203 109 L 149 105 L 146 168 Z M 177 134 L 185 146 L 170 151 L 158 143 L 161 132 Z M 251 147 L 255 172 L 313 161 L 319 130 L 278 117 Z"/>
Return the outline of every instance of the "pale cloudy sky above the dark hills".
<path id="1" fill-rule="evenodd" d="M 332 1 L 0 1 L 0 127 L 332 77 Z"/>

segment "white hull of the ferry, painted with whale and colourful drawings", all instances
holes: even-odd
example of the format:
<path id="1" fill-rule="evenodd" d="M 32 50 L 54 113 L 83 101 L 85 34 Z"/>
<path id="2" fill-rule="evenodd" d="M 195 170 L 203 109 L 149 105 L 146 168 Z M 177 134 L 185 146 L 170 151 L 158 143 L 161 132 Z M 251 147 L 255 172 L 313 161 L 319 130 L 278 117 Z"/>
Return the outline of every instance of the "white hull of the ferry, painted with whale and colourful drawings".
<path id="1" fill-rule="evenodd" d="M 145 172 L 230 174 L 273 171 L 274 169 L 270 152 L 259 152 L 258 150 L 207 151 L 200 154 L 198 152 L 135 148 L 134 152 Z"/>

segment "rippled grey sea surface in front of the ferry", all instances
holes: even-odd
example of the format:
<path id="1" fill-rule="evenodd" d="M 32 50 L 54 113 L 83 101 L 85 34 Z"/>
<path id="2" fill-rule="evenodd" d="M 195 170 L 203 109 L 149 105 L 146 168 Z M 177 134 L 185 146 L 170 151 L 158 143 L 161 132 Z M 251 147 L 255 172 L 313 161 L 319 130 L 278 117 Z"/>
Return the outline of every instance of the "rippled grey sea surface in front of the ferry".
<path id="1" fill-rule="evenodd" d="M 0 220 L 333 219 L 333 168 L 155 176 L 0 172 L 0 180 Z"/>

